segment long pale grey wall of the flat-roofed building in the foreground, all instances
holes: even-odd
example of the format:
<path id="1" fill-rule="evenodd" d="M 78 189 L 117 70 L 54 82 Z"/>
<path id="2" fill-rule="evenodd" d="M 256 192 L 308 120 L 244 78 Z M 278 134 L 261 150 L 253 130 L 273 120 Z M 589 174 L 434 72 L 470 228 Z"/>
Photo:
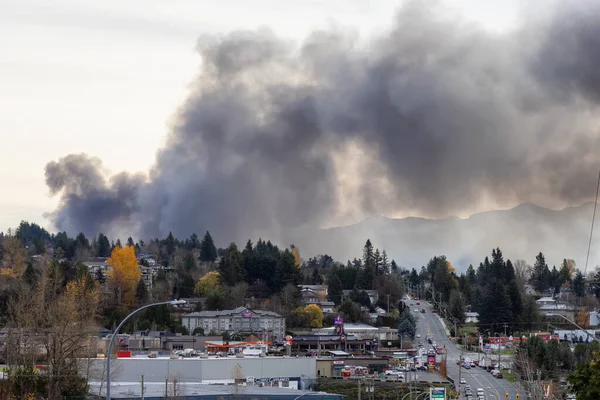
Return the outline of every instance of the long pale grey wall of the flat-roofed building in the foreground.
<path id="1" fill-rule="evenodd" d="M 105 359 L 91 361 L 90 380 L 100 377 Z M 177 379 L 183 382 L 230 381 L 233 379 L 300 377 L 314 380 L 317 375 L 316 359 L 303 358 L 119 358 L 111 361 L 113 382 L 164 382 Z"/>

